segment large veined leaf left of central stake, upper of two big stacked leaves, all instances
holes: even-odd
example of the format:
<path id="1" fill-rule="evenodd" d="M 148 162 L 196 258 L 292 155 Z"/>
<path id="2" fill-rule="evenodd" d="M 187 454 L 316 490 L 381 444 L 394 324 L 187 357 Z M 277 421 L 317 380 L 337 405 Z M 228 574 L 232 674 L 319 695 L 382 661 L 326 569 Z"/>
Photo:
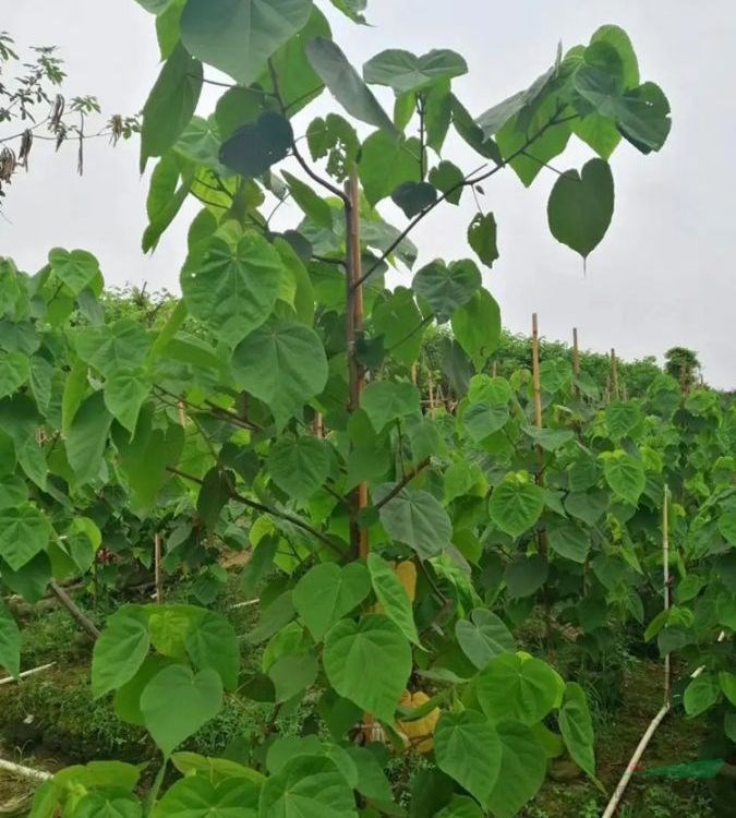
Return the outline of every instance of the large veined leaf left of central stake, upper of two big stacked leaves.
<path id="1" fill-rule="evenodd" d="M 182 272 L 184 301 L 195 318 L 234 347 L 268 320 L 282 269 L 281 256 L 255 231 L 236 248 L 213 239 L 202 264 Z"/>

